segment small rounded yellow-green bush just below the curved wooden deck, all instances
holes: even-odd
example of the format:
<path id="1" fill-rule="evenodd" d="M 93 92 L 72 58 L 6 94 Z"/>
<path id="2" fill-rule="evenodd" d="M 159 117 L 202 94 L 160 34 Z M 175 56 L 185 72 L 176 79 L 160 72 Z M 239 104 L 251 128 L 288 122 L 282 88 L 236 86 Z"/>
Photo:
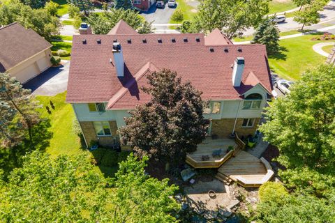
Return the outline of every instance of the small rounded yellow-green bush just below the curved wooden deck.
<path id="1" fill-rule="evenodd" d="M 258 192 L 260 201 L 281 201 L 284 197 L 288 196 L 288 191 L 285 189 L 283 184 L 276 182 L 267 182 L 260 186 Z"/>

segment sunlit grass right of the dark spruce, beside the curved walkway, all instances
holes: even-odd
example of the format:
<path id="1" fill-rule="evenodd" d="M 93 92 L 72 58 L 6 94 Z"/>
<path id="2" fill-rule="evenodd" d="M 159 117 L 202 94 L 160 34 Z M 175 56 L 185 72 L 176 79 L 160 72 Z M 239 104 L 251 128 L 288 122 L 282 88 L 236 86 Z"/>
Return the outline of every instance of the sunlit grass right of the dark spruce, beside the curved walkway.
<path id="1" fill-rule="evenodd" d="M 325 56 L 317 54 L 312 49 L 313 45 L 325 42 L 311 40 L 315 35 L 310 34 L 281 40 L 279 44 L 283 50 L 274 56 L 269 56 L 271 70 L 285 79 L 296 80 L 308 68 L 314 68 L 325 63 Z"/>

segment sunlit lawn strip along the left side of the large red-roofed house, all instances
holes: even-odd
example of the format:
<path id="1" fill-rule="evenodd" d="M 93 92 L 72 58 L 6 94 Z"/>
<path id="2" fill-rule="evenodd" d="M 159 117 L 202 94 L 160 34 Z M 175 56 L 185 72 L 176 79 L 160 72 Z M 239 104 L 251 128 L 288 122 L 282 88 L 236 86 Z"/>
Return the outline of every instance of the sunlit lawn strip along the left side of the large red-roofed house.
<path id="1" fill-rule="evenodd" d="M 43 105 L 38 111 L 43 118 L 49 118 L 52 132 L 50 146 L 46 148 L 46 152 L 51 154 L 51 157 L 57 157 L 61 154 L 77 155 L 86 153 L 89 156 L 89 151 L 84 148 L 84 142 L 75 132 L 75 113 L 72 106 L 65 102 L 66 91 L 55 96 L 36 96 L 37 100 Z M 50 106 L 50 101 L 54 104 L 54 109 Z M 51 114 L 47 113 L 45 106 L 50 107 Z M 89 161 L 88 161 L 89 162 Z M 96 171 L 101 171 L 105 176 L 114 176 L 118 167 L 96 166 Z"/>

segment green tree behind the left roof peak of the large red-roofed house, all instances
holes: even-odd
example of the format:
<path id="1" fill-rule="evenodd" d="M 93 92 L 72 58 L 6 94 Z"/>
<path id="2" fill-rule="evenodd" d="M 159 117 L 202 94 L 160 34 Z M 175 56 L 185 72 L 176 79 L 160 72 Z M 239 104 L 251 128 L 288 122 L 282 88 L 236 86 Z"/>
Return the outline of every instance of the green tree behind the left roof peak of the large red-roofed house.
<path id="1" fill-rule="evenodd" d="M 102 15 L 91 14 L 87 22 L 95 34 L 107 34 L 120 20 L 124 20 L 139 33 L 151 33 L 151 23 L 146 22 L 134 10 L 123 10 L 112 8 L 104 11 Z"/>

